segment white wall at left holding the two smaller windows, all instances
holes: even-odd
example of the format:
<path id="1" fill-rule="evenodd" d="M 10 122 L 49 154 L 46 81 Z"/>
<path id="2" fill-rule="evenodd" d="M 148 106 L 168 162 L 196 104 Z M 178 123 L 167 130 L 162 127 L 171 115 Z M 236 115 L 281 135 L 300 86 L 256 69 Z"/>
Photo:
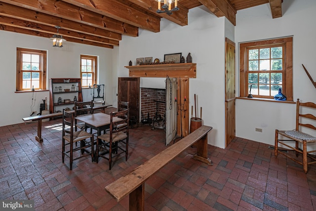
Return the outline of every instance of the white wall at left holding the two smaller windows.
<path id="1" fill-rule="evenodd" d="M 22 35 L 0 30 L 0 126 L 21 123 L 23 117 L 30 116 L 32 92 L 15 93 L 16 48 L 47 50 L 47 77 L 79 78 L 80 54 L 99 56 L 99 83 L 106 84 L 106 101 L 113 103 L 112 91 L 112 51 L 110 48 L 64 42 L 64 47 L 52 47 L 48 38 Z M 47 83 L 49 88 L 49 80 Z M 42 99 L 49 99 L 49 91 L 34 92 L 34 111 L 40 112 Z M 91 100 L 90 90 L 83 90 L 83 100 Z M 49 101 L 49 100 L 48 100 Z M 49 103 L 49 102 L 48 102 Z"/>

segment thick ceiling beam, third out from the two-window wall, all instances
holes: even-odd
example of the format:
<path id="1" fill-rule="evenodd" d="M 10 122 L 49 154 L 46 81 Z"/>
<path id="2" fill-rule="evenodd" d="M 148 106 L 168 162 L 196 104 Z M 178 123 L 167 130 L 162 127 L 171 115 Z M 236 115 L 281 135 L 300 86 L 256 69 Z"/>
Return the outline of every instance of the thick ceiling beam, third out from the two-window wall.
<path id="1" fill-rule="evenodd" d="M 77 23 L 74 21 L 66 20 L 52 15 L 47 15 L 41 12 L 33 11 L 30 9 L 22 8 L 19 6 L 1 3 L 0 2 L 0 15 L 18 18 L 25 21 L 45 24 L 48 26 L 60 26 L 63 29 L 68 29 L 76 32 L 84 32 L 93 36 L 99 36 L 106 39 L 121 40 L 121 34 L 110 32 L 108 30 L 88 26 L 85 24 Z"/>

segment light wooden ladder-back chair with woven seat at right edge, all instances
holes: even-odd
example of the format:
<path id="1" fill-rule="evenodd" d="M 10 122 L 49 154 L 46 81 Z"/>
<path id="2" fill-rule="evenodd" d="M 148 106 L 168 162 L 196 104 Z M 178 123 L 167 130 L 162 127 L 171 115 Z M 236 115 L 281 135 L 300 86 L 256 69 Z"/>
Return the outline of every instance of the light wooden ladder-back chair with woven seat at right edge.
<path id="1" fill-rule="evenodd" d="M 316 163 L 315 155 L 310 155 L 310 153 L 314 153 L 316 150 L 308 151 L 307 149 L 308 144 L 316 142 L 316 137 L 311 135 L 311 133 L 316 135 L 316 104 L 312 102 L 302 103 L 297 99 L 296 127 L 293 130 L 276 129 L 275 157 L 277 157 L 278 153 L 285 155 L 296 163 L 303 165 L 303 170 L 307 173 L 308 165 Z M 290 140 L 279 139 L 279 136 L 284 136 Z M 293 144 L 290 145 L 291 142 L 293 142 Z M 295 146 L 293 146 L 294 143 Z M 284 146 L 287 148 L 284 148 Z M 315 148 L 314 144 L 313 146 Z M 310 149 L 312 149 L 312 147 Z M 291 156 L 291 153 L 284 152 L 284 149 L 295 151 L 296 157 L 302 154 L 302 158 L 295 158 L 295 156 Z M 308 162 L 308 157 L 312 160 L 311 162 Z"/>

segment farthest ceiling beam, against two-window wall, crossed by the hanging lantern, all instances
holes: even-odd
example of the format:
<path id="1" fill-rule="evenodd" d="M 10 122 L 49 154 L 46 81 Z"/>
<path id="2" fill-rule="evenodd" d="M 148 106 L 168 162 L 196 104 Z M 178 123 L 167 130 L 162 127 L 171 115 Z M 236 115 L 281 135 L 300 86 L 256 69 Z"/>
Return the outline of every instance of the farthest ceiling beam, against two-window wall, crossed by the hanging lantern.
<path id="1" fill-rule="evenodd" d="M 17 28 L 17 27 L 13 27 L 13 26 L 2 25 L 2 24 L 0 24 L 0 30 L 4 30 L 4 31 L 8 31 L 8 32 L 16 32 L 16 33 L 20 33 L 20 34 L 39 36 L 39 37 L 44 37 L 44 38 L 48 38 L 51 36 L 51 34 L 47 34 L 47 33 L 40 32 L 40 31 L 27 30 L 27 29 L 22 29 L 22 28 Z M 69 42 L 77 42 L 77 43 L 81 43 L 81 44 L 95 45 L 95 46 L 99 46 L 99 47 L 113 48 L 113 45 L 109 45 L 109 44 L 102 44 L 102 43 L 98 43 L 98 42 L 79 40 L 79 39 L 75 39 L 75 38 L 71 38 L 71 37 L 65 37 L 65 39 Z M 47 42 L 50 42 L 50 41 L 47 39 Z"/>

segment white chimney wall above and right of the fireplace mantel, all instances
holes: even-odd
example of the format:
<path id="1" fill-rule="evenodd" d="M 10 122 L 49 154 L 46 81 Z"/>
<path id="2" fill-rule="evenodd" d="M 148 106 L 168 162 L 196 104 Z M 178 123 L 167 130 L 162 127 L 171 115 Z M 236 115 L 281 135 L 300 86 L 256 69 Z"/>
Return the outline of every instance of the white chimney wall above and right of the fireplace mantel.
<path id="1" fill-rule="evenodd" d="M 153 57 L 163 61 L 164 54 L 179 53 L 186 58 L 191 52 L 197 63 L 197 78 L 190 79 L 190 102 L 194 105 L 197 95 L 197 116 L 203 110 L 204 125 L 213 127 L 208 143 L 224 148 L 225 145 L 225 18 L 217 18 L 203 6 L 190 9 L 188 26 L 179 26 L 164 18 L 160 32 L 139 30 L 139 37 L 123 36 L 119 43 L 117 75 L 128 76 L 129 60 L 135 65 L 136 58 Z M 153 82 L 154 83 L 154 82 Z M 191 118 L 191 109 L 188 109 Z"/>

